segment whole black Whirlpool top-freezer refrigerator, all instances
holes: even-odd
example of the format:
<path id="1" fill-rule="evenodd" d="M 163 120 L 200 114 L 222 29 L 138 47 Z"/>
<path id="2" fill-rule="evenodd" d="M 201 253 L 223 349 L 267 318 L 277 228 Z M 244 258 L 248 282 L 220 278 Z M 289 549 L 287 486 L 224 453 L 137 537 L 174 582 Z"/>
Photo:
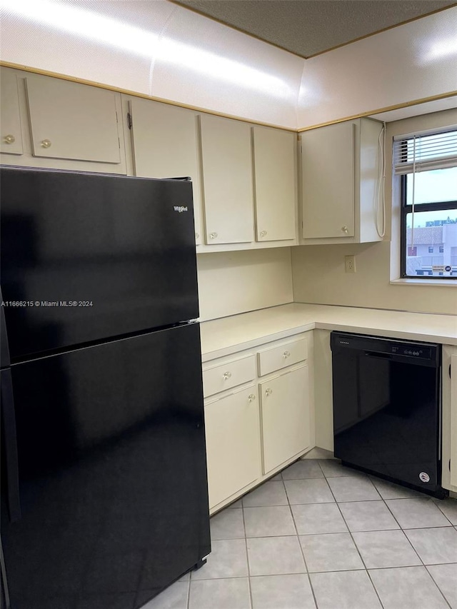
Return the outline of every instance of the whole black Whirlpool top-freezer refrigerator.
<path id="1" fill-rule="evenodd" d="M 0 187 L 2 607 L 137 609 L 210 552 L 192 185 Z"/>

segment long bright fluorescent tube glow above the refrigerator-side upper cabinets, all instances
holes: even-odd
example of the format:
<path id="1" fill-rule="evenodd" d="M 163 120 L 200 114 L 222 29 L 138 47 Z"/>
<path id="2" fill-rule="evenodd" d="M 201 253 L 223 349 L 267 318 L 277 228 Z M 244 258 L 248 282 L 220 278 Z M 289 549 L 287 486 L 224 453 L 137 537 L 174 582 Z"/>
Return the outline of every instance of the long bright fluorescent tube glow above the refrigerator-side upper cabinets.
<path id="1" fill-rule="evenodd" d="M 52 0 L 0 0 L 0 7 L 28 21 L 51 26 L 58 32 L 66 31 L 79 38 L 108 44 L 116 49 L 147 57 L 154 62 L 159 59 L 178 68 L 184 66 L 216 81 L 226 81 L 243 89 L 262 91 L 279 98 L 293 94 L 286 82 L 278 76 L 191 44 L 165 36 L 159 38 L 158 34 L 78 6 Z"/>

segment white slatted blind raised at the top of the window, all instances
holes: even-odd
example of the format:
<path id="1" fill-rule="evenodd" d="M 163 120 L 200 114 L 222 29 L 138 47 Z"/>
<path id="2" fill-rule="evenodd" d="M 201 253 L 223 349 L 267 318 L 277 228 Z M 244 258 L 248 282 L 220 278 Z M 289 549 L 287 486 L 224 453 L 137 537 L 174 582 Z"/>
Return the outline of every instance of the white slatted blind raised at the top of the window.
<path id="1" fill-rule="evenodd" d="M 396 136 L 393 172 L 398 175 L 457 167 L 457 130 Z"/>

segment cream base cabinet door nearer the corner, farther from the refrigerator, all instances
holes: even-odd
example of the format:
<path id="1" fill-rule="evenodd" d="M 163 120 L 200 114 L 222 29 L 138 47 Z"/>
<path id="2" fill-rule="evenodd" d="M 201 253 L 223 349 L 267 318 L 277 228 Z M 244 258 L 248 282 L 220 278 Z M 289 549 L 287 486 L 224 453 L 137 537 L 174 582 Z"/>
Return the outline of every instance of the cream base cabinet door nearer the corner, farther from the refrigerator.
<path id="1" fill-rule="evenodd" d="M 308 366 L 260 383 L 263 473 L 309 446 Z"/>

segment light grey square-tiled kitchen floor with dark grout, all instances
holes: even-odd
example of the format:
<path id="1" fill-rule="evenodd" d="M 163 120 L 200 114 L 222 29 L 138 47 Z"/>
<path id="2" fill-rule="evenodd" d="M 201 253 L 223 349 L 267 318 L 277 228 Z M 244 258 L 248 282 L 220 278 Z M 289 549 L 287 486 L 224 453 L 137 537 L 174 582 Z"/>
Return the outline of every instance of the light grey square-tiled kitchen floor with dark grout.
<path id="1" fill-rule="evenodd" d="M 298 460 L 211 518 L 212 553 L 144 609 L 457 609 L 457 500 Z"/>

